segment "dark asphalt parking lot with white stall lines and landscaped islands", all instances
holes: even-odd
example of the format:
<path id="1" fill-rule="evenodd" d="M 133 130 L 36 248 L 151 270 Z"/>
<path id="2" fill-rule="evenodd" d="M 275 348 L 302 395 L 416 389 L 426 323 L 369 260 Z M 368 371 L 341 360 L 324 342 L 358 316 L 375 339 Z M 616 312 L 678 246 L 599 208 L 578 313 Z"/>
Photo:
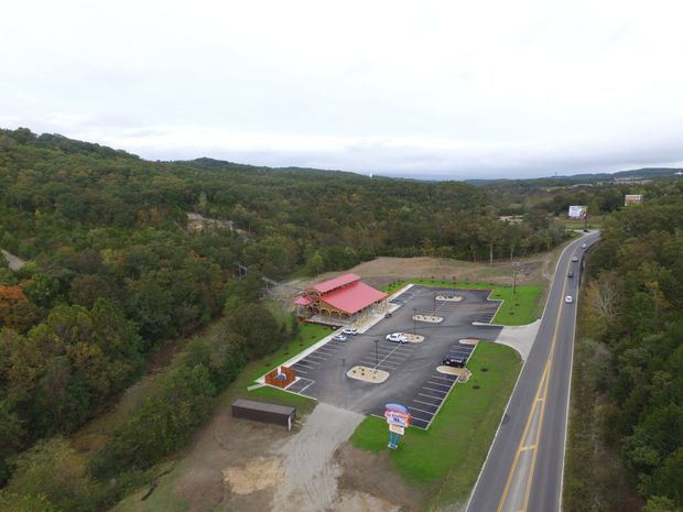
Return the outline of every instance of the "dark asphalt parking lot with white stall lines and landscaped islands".
<path id="1" fill-rule="evenodd" d="M 437 301 L 436 296 L 460 295 L 462 302 Z M 413 286 L 392 301 L 400 307 L 391 318 L 348 341 L 329 341 L 294 364 L 299 379 L 288 390 L 362 414 L 382 414 L 386 403 L 409 407 L 413 425 L 427 428 L 456 377 L 436 368 L 446 357 L 469 358 L 474 347 L 464 338 L 494 340 L 500 327 L 478 325 L 495 316 L 500 302 L 488 301 L 488 290 L 453 290 Z M 413 322 L 413 314 L 437 315 L 440 324 Z M 474 325 L 474 324 L 477 325 Z M 390 333 L 418 334 L 420 344 L 393 344 Z M 381 384 L 350 379 L 346 372 L 361 364 L 390 373 Z"/>

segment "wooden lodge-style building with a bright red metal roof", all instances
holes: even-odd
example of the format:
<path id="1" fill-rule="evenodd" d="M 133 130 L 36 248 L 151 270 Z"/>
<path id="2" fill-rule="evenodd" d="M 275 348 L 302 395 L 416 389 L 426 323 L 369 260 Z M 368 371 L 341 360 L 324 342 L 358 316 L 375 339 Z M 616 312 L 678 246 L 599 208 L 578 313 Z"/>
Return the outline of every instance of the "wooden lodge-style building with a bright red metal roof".
<path id="1" fill-rule="evenodd" d="M 373 313 L 384 313 L 387 297 L 384 292 L 361 283 L 358 275 L 344 274 L 308 286 L 294 304 L 296 314 L 302 318 L 348 325 L 364 320 Z"/>

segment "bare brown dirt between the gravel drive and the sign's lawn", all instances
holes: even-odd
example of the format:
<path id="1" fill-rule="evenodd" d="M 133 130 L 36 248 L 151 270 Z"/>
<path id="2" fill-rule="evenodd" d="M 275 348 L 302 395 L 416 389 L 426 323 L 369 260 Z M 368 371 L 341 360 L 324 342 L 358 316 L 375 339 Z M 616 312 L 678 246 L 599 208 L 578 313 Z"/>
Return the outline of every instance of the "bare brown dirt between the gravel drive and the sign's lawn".
<path id="1" fill-rule="evenodd" d="M 389 438 L 389 434 L 387 434 L 387 438 Z M 418 511 L 429 494 L 429 490 L 409 486 L 395 473 L 387 451 L 376 455 L 354 448 L 350 445 L 344 445 L 337 453 L 337 460 L 344 468 L 339 477 L 340 497 L 360 493 L 373 497 L 380 506 L 389 506 L 370 510 L 393 511 L 399 508 L 402 511 Z M 349 508 L 346 510 L 362 509 Z"/>

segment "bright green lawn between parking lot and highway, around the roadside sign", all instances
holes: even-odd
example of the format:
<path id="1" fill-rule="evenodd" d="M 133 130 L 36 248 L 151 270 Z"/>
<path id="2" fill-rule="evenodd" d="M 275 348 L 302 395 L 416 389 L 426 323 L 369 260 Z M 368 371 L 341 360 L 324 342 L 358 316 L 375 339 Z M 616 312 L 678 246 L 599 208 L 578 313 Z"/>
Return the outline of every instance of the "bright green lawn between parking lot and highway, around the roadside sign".
<path id="1" fill-rule="evenodd" d="M 431 506 L 463 503 L 469 495 L 521 361 L 509 347 L 480 342 L 468 368 L 471 379 L 454 388 L 429 431 L 409 428 L 399 448 L 388 450 L 387 423 L 367 417 L 350 439 L 357 448 L 388 450 L 393 467 L 408 482 L 434 486 Z"/>

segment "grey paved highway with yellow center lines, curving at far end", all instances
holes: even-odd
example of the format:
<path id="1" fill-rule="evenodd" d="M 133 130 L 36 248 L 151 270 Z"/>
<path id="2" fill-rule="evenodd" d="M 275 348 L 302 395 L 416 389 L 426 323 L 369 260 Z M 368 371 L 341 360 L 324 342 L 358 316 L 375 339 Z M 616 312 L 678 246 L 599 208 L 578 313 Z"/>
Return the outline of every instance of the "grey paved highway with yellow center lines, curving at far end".
<path id="1" fill-rule="evenodd" d="M 584 233 L 560 255 L 541 325 L 517 381 L 466 512 L 555 512 L 562 508 L 576 296 Z M 572 262 L 577 257 L 578 262 Z M 568 277 L 570 270 L 573 277 Z M 573 302 L 565 303 L 571 295 Z"/>

